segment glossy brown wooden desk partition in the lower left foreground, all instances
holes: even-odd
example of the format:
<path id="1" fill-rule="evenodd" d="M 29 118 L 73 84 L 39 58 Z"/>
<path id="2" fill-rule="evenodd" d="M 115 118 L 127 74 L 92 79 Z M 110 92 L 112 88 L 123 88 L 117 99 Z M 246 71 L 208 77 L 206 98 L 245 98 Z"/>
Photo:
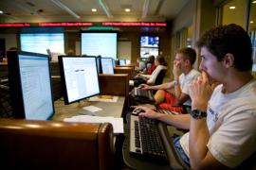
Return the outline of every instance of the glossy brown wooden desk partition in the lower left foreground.
<path id="1" fill-rule="evenodd" d="M 0 119 L 0 164 L 8 169 L 113 169 L 111 124 Z"/>

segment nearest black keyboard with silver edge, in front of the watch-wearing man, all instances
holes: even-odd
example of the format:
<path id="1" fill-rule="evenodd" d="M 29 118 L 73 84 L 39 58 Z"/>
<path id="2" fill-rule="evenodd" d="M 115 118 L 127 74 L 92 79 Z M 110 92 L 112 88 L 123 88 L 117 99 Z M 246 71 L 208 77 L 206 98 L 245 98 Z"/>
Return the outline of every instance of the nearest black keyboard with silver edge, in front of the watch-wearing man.
<path id="1" fill-rule="evenodd" d="M 167 161 L 155 120 L 131 115 L 129 153 L 141 159 Z"/>

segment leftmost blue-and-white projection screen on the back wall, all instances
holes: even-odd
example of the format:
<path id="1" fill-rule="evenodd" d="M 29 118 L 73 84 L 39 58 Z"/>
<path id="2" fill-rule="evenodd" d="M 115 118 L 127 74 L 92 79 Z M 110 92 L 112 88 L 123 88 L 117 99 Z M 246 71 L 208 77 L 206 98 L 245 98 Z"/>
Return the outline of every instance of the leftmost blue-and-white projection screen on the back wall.
<path id="1" fill-rule="evenodd" d="M 23 33 L 21 50 L 47 54 L 46 49 L 64 54 L 64 33 Z"/>

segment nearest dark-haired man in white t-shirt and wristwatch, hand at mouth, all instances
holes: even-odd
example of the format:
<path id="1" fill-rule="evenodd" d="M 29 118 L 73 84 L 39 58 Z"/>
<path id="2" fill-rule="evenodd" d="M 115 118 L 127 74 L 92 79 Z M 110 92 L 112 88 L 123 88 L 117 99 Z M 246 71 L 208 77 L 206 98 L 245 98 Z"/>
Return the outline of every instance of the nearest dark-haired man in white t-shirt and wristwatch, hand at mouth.
<path id="1" fill-rule="evenodd" d="M 192 82 L 192 113 L 167 115 L 146 107 L 139 116 L 190 132 L 174 139 L 192 169 L 235 168 L 256 150 L 256 79 L 251 75 L 252 47 L 247 32 L 235 24 L 206 31 L 201 48 L 202 76 Z M 221 84 L 212 92 L 210 80 Z"/>

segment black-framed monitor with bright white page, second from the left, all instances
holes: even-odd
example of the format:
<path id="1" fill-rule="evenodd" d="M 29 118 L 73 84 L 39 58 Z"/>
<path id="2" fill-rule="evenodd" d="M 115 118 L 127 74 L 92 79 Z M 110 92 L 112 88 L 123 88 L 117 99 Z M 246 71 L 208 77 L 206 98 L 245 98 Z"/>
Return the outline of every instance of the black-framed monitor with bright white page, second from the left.
<path id="1" fill-rule="evenodd" d="M 95 57 L 59 56 L 64 104 L 80 101 L 100 93 Z"/>

